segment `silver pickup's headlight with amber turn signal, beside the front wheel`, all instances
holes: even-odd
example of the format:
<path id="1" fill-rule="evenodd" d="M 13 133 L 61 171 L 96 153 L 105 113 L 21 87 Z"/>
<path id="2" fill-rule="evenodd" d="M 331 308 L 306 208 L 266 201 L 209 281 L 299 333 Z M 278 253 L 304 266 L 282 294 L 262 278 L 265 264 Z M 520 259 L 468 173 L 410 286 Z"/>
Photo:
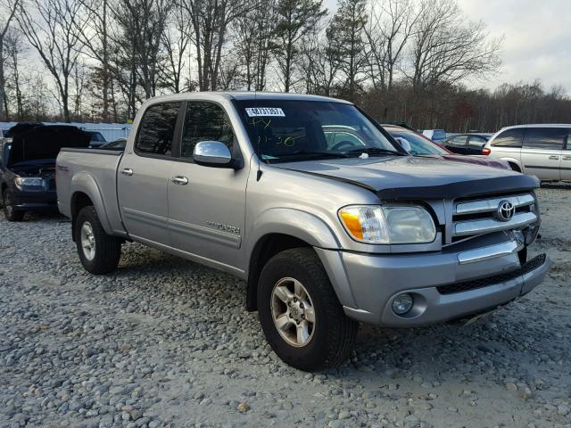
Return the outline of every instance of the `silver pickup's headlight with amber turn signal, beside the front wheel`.
<path id="1" fill-rule="evenodd" d="M 417 206 L 353 205 L 339 210 L 345 230 L 360 243 L 432 243 L 436 227 Z"/>

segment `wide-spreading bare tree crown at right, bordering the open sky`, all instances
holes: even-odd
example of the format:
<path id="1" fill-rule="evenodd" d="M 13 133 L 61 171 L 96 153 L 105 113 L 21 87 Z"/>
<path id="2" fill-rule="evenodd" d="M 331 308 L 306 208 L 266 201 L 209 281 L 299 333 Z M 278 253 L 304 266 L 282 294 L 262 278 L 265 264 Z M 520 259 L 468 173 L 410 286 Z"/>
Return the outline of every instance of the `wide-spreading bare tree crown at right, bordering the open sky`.
<path id="1" fill-rule="evenodd" d="M 468 21 L 456 0 L 424 0 L 412 37 L 409 78 L 415 92 L 497 70 L 501 39 L 484 22 Z"/>

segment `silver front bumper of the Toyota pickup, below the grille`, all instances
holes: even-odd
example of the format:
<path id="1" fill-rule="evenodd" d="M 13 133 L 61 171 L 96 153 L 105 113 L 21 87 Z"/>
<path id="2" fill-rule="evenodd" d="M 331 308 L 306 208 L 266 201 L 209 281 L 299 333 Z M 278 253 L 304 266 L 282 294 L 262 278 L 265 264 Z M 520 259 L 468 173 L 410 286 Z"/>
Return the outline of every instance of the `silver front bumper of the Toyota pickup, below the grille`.
<path id="1" fill-rule="evenodd" d="M 494 309 L 541 284 L 550 268 L 545 255 L 524 266 L 524 248 L 513 235 L 487 235 L 439 252 L 363 254 L 317 250 L 347 316 L 390 327 L 432 325 Z M 407 314 L 393 299 L 413 296 Z"/>

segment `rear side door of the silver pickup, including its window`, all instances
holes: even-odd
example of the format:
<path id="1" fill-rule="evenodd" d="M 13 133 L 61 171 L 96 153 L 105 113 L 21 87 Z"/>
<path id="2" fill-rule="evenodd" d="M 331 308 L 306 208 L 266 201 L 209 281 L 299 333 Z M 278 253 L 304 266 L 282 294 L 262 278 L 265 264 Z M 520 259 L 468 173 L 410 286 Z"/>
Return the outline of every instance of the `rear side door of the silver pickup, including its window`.
<path id="1" fill-rule="evenodd" d="M 182 103 L 153 104 L 120 162 L 117 181 L 121 218 L 128 234 L 145 243 L 169 245 L 168 184 L 172 143 Z"/>

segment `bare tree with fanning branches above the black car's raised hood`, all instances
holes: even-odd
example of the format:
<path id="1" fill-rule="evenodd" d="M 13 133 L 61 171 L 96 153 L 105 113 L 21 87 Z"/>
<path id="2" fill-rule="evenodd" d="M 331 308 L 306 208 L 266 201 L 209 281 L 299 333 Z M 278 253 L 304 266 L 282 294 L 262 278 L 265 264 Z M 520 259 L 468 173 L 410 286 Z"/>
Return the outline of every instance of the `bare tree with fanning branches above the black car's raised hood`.
<path id="1" fill-rule="evenodd" d="M 86 28 L 79 0 L 29 0 L 21 3 L 16 16 L 47 70 L 54 78 L 62 103 L 63 119 L 70 121 L 70 78 L 83 48 L 81 32 Z"/>

